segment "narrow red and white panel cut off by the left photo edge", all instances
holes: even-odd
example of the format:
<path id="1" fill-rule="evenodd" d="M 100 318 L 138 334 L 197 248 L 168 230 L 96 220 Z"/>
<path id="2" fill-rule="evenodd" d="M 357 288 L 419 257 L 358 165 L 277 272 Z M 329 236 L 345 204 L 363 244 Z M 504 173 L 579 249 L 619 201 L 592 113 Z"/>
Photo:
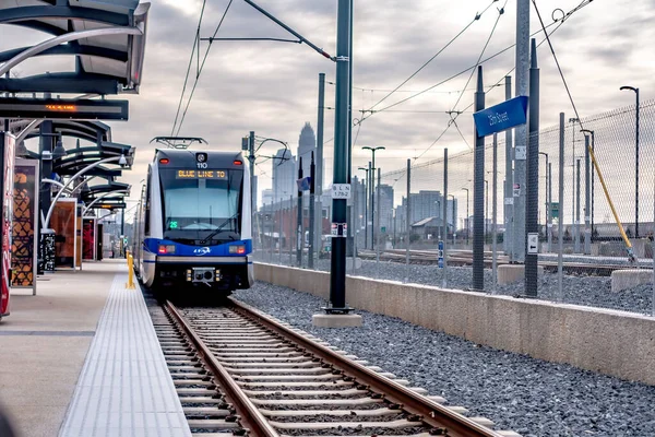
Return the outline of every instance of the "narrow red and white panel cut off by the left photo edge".
<path id="1" fill-rule="evenodd" d="M 1 155 L 2 178 L 2 270 L 0 271 L 0 317 L 9 315 L 9 292 L 11 281 L 11 221 L 13 206 L 13 175 L 15 138 L 1 132 L 4 153 Z"/>

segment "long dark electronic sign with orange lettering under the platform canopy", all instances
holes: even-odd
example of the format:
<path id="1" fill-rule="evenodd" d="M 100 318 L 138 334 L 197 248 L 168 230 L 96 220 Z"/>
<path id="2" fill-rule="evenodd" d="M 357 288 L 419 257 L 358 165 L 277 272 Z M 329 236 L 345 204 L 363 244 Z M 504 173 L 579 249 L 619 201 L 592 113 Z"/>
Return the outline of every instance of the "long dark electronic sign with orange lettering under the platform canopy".
<path id="1" fill-rule="evenodd" d="M 128 101 L 0 98 L 0 118 L 128 120 Z"/>

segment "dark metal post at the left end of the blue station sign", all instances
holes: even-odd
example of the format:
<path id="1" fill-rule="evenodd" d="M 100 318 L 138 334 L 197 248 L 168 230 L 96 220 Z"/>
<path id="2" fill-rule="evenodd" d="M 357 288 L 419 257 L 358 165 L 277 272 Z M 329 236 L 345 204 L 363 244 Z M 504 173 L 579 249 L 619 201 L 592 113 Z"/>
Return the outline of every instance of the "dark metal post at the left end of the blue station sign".
<path id="1" fill-rule="evenodd" d="M 483 66 L 478 66 L 475 111 L 485 109 Z M 478 137 L 474 123 L 475 170 L 473 181 L 473 290 L 485 290 L 485 138 Z"/>

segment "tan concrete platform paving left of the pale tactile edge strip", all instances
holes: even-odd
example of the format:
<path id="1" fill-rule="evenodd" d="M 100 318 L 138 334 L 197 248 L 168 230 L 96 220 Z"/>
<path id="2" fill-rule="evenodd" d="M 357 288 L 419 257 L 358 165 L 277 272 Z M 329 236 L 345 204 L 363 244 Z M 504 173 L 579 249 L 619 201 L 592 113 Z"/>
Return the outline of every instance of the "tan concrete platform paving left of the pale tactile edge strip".
<path id="1" fill-rule="evenodd" d="M 24 437 L 57 436 L 116 272 L 124 260 L 84 264 L 13 290 L 0 322 L 0 403 Z"/>

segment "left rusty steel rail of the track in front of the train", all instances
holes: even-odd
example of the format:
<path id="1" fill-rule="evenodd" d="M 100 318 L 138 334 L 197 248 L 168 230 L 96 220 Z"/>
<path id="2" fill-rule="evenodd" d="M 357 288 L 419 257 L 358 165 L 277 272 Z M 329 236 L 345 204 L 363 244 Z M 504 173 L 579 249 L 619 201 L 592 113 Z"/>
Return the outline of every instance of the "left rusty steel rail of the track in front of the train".
<path id="1" fill-rule="evenodd" d="M 193 343 L 195 352 L 200 359 L 204 362 L 207 369 L 216 378 L 216 382 L 225 392 L 225 397 L 231 403 L 241 418 L 241 425 L 249 428 L 253 436 L 258 437 L 279 437 L 279 434 L 269 424 L 269 421 L 262 415 L 257 406 L 248 399 L 246 393 L 229 376 L 228 371 L 218 363 L 214 354 L 209 350 L 202 339 L 193 331 L 184 316 L 170 302 L 166 302 L 164 309 L 172 317 L 177 324 L 184 331 L 189 340 Z"/>

